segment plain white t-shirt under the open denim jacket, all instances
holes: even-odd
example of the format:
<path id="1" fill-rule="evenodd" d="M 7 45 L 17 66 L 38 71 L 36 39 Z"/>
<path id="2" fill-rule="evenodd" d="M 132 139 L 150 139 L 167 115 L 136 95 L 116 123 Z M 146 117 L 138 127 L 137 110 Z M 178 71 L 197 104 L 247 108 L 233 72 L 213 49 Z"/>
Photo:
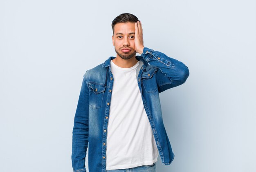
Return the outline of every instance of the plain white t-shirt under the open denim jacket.
<path id="1" fill-rule="evenodd" d="M 159 152 L 144 109 L 136 65 L 122 68 L 110 61 L 113 87 L 108 118 L 106 170 L 153 164 Z"/>

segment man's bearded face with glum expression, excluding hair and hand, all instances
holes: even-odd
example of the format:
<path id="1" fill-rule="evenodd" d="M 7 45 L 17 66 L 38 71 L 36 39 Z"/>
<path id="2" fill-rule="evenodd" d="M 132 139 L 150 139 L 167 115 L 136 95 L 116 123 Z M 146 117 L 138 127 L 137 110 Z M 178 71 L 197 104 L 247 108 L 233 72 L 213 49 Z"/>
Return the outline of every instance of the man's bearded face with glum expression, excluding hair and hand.
<path id="1" fill-rule="evenodd" d="M 112 42 L 115 46 L 117 56 L 123 59 L 130 59 L 136 55 L 134 38 L 134 22 L 117 23 L 115 25 Z"/>

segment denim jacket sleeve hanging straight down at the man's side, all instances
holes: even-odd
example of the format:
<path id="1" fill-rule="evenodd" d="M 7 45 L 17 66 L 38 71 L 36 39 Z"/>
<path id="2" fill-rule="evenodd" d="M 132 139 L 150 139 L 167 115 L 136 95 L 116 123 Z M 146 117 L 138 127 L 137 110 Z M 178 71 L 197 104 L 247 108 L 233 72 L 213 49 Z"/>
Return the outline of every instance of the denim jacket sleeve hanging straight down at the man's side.
<path id="1" fill-rule="evenodd" d="M 85 156 L 88 147 L 88 97 L 89 88 L 86 81 L 86 72 L 74 117 L 72 136 L 72 167 L 74 172 L 86 172 Z"/>

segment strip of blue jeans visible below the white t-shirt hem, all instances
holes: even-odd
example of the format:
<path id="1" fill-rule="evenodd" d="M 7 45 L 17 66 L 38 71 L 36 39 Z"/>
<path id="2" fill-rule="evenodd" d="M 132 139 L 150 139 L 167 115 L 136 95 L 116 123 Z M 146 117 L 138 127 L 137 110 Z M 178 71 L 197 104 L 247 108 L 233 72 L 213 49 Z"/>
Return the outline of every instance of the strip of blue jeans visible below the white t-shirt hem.
<path id="1" fill-rule="evenodd" d="M 156 163 L 152 165 L 142 165 L 139 167 L 134 168 L 126 168 L 126 169 L 119 169 L 119 170 L 107 170 L 106 172 L 156 172 Z"/>

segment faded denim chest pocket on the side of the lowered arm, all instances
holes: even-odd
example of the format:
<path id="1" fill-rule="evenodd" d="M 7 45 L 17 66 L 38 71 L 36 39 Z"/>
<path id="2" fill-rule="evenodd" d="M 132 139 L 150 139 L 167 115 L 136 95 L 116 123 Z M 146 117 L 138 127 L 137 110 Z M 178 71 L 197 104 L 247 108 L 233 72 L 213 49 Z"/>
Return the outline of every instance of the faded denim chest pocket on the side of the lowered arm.
<path id="1" fill-rule="evenodd" d="M 103 94 L 106 86 L 96 83 L 89 83 L 89 106 L 93 109 L 102 106 Z"/>

